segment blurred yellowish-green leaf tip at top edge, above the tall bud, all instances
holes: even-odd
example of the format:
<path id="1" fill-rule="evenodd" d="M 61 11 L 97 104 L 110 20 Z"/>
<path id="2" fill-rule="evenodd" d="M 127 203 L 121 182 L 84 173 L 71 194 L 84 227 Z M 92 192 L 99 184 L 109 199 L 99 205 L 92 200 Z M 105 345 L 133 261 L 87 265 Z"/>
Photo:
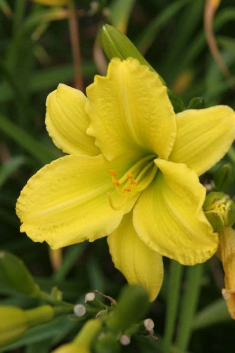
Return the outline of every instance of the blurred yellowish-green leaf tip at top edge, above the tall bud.
<path id="1" fill-rule="evenodd" d="M 136 0 L 113 0 L 110 4 L 109 20 L 120 31 L 126 33 L 127 23 Z"/>

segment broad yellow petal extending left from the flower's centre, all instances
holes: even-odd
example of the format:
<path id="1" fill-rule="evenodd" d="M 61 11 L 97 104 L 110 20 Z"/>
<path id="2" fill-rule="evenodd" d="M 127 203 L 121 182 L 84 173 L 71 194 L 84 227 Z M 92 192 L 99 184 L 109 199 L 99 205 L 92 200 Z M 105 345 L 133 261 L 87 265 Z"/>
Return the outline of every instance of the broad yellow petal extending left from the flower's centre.
<path id="1" fill-rule="evenodd" d="M 123 174 L 130 167 L 119 158 L 108 162 L 102 155 L 65 156 L 45 165 L 28 181 L 16 206 L 21 231 L 52 249 L 111 233 L 129 212 L 138 195 L 114 211 L 108 201 L 123 201 L 111 183 L 110 167 Z"/>

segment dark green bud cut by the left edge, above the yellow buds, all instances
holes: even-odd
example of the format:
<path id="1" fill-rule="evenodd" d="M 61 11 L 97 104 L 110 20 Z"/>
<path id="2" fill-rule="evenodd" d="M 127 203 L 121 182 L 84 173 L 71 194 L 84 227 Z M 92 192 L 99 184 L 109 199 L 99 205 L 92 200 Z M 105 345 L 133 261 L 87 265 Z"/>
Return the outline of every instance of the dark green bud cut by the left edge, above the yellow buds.
<path id="1" fill-rule="evenodd" d="M 0 282 L 31 297 L 40 292 L 24 263 L 6 251 L 0 252 Z"/>

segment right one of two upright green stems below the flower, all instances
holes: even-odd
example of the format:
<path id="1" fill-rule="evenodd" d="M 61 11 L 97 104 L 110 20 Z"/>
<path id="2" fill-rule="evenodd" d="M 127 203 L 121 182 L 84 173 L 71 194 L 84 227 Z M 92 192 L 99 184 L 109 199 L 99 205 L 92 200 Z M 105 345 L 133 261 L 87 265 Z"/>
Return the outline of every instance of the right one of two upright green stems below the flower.
<path id="1" fill-rule="evenodd" d="M 203 264 L 188 267 L 186 274 L 186 289 L 182 298 L 177 339 L 175 346 L 186 350 L 189 345 L 194 313 L 201 289 Z"/>

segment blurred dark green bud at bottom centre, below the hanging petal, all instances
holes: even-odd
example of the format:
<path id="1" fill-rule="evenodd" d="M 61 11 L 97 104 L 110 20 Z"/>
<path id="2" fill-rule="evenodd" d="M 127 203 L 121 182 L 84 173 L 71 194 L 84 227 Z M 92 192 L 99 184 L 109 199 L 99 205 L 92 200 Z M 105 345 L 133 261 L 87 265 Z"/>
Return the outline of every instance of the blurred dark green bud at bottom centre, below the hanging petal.
<path id="1" fill-rule="evenodd" d="M 107 327 L 117 333 L 126 330 L 146 314 L 148 305 L 148 293 L 142 286 L 126 286 L 121 292 L 118 305 L 106 322 Z"/>

